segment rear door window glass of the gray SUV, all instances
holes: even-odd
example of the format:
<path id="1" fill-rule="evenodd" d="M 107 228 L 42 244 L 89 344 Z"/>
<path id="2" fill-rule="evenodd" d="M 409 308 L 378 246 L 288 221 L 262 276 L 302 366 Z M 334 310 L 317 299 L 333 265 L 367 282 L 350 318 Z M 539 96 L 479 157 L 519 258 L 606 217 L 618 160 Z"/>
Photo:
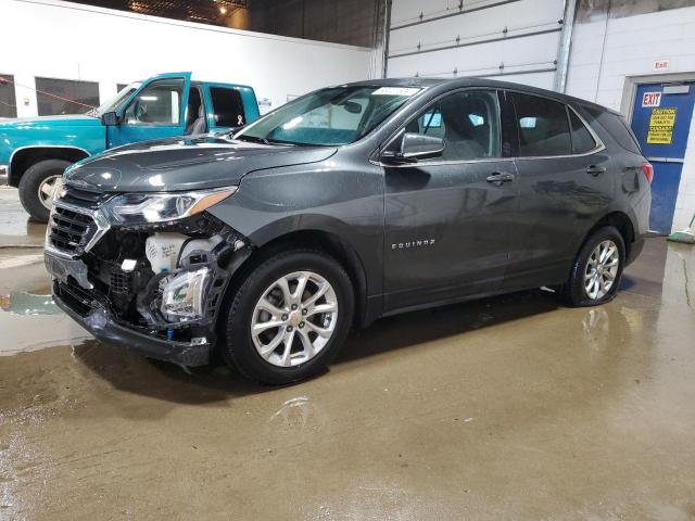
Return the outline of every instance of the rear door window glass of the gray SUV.
<path id="1" fill-rule="evenodd" d="M 557 101 L 514 92 L 521 157 L 569 155 L 572 142 L 567 110 Z"/>

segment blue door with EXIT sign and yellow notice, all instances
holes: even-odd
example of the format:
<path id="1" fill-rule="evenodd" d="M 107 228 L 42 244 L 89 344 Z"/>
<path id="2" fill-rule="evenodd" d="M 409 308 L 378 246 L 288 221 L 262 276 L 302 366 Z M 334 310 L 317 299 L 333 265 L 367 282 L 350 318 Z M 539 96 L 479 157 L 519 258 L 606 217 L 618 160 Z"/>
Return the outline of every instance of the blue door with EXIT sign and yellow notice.
<path id="1" fill-rule="evenodd" d="M 671 232 L 683 157 L 695 103 L 695 82 L 637 87 L 632 130 L 654 166 L 649 229 Z"/>

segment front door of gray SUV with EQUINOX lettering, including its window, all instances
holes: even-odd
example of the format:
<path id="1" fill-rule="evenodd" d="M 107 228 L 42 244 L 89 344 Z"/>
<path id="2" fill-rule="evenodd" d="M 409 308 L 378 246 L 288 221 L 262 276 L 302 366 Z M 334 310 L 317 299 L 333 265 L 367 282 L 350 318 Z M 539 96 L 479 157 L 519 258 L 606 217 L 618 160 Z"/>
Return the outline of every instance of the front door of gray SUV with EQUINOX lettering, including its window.
<path id="1" fill-rule="evenodd" d="M 517 204 L 496 91 L 448 94 L 404 131 L 441 137 L 445 149 L 434 160 L 384 167 L 386 310 L 495 291 Z"/>

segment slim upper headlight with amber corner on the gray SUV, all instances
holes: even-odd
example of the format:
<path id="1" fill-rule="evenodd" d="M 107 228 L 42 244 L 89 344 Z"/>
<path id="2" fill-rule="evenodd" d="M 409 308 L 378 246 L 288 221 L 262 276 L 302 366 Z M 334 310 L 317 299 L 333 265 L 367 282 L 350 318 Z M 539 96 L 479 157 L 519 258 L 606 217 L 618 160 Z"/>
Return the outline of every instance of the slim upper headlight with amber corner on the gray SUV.
<path id="1" fill-rule="evenodd" d="M 227 199 L 237 187 L 194 192 L 124 193 L 106 204 L 114 224 L 167 223 L 195 215 Z"/>

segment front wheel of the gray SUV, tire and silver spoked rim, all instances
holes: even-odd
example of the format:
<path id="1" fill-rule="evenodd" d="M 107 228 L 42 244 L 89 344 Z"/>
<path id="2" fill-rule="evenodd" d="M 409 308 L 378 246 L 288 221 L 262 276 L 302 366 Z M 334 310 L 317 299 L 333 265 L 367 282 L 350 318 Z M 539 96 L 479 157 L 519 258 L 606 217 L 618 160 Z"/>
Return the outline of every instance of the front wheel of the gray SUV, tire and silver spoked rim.
<path id="1" fill-rule="evenodd" d="M 299 300 L 294 297 L 300 293 L 298 276 L 307 279 Z M 289 280 L 287 294 L 292 294 L 289 300 L 285 298 L 286 291 L 278 283 L 281 279 Z M 329 290 L 312 305 L 311 297 L 320 293 L 319 288 L 326 288 L 321 280 L 328 282 Z M 262 297 L 265 297 L 263 303 Z M 267 304 L 271 306 L 266 307 Z M 296 309 L 292 310 L 292 305 Z M 270 307 L 275 309 L 273 314 L 266 310 Z M 334 315 L 333 312 L 309 314 L 333 307 Z M 223 359 L 249 380 L 281 385 L 323 371 L 334 358 L 352 325 L 354 291 L 350 277 L 336 259 L 315 250 L 298 249 L 254 267 L 229 295 L 226 309 L 226 323 L 220 328 L 218 344 Z M 309 315 L 303 315 L 305 310 Z M 317 323 L 319 320 L 321 323 Z M 281 326 L 252 333 L 252 326 L 266 328 L 266 322 Z M 320 331 L 326 335 L 329 330 L 327 339 L 318 334 Z M 307 339 L 311 350 L 305 343 Z M 280 344 L 271 350 L 277 341 Z M 289 351 L 287 345 L 290 345 Z M 265 352 L 264 356 L 262 352 Z"/>

